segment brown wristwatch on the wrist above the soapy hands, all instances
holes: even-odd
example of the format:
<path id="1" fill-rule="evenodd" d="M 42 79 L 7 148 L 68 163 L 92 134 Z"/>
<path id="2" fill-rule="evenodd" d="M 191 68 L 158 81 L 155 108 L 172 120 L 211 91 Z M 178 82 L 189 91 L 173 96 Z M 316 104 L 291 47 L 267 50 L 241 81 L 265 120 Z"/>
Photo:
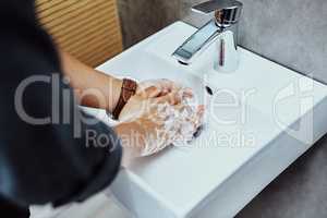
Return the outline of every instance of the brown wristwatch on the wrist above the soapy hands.
<path id="1" fill-rule="evenodd" d="M 130 78 L 124 78 L 123 80 L 120 96 L 119 96 L 119 100 L 118 100 L 117 106 L 116 106 L 116 108 L 113 109 L 113 112 L 112 112 L 112 118 L 114 120 L 119 119 L 120 112 L 122 111 L 122 109 L 124 108 L 126 102 L 130 100 L 130 98 L 133 95 L 135 95 L 136 89 L 137 89 L 137 83 L 135 81 L 130 80 Z"/>

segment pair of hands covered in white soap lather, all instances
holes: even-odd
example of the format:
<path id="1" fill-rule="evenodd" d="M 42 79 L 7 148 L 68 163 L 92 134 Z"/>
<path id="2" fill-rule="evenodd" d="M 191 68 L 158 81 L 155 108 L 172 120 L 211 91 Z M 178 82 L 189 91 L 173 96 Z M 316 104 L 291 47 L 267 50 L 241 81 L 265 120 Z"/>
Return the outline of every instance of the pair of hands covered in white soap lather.
<path id="1" fill-rule="evenodd" d="M 116 132 L 129 156 L 156 154 L 178 141 L 191 140 L 202 124 L 204 106 L 192 108 L 193 97 L 168 80 L 143 82 L 120 113 Z"/>

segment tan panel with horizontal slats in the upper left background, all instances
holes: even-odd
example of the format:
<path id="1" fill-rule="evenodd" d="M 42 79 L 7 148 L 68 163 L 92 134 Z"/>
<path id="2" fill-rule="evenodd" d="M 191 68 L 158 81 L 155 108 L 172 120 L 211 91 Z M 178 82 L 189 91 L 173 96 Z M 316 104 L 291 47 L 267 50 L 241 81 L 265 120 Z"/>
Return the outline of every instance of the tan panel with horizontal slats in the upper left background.
<path id="1" fill-rule="evenodd" d="M 116 0 L 36 0 L 36 9 L 56 43 L 88 65 L 122 51 Z"/>

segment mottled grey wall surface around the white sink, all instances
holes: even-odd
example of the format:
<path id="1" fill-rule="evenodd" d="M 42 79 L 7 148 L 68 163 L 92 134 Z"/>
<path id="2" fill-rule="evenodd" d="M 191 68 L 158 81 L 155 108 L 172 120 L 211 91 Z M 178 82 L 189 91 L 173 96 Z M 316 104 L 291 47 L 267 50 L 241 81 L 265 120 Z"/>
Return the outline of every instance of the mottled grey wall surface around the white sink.
<path id="1" fill-rule="evenodd" d="M 189 10 L 202 1 L 119 0 L 125 46 L 175 20 L 203 24 L 208 17 Z M 327 83 L 327 0 L 241 1 L 241 46 Z M 326 146 L 326 138 L 317 143 L 239 217 L 327 217 Z"/>

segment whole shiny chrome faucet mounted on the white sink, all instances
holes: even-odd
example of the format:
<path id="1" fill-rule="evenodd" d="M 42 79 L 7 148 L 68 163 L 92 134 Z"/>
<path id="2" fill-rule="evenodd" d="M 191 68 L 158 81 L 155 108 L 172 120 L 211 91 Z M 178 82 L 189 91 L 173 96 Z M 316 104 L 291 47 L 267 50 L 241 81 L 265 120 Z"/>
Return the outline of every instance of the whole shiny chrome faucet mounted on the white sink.
<path id="1" fill-rule="evenodd" d="M 174 52 L 182 64 L 191 64 L 207 47 L 217 41 L 216 68 L 230 72 L 238 69 L 238 22 L 243 4 L 237 0 L 210 0 L 192 8 L 215 17 L 186 39 Z"/>

